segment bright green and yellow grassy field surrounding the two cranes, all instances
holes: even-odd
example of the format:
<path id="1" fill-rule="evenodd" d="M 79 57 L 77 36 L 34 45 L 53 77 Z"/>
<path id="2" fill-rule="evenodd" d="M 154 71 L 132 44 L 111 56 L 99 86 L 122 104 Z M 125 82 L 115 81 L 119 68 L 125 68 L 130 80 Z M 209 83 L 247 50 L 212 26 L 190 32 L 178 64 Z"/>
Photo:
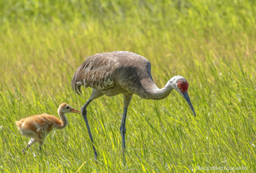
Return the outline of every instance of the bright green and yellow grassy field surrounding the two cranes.
<path id="1" fill-rule="evenodd" d="M 91 102 L 82 115 L 23 155 L 28 138 L 15 121 L 61 102 L 80 109 L 71 79 L 87 56 L 114 50 L 139 53 L 159 86 L 184 76 L 194 117 L 173 91 L 161 101 L 134 96 L 126 123 L 122 166 L 121 95 Z M 0 1 L 0 172 L 211 172 L 256 170 L 256 2 Z M 219 170 L 217 170 L 217 168 Z M 239 168 L 240 169 L 240 168 Z M 246 172 L 244 169 L 228 172 Z"/>

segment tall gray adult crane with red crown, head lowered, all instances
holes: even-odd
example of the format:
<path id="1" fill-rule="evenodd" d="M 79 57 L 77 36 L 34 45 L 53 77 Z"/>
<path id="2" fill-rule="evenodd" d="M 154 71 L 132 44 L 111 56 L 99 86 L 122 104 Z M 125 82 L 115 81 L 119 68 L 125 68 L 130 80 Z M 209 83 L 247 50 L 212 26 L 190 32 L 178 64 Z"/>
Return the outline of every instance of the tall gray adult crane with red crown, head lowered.
<path id="1" fill-rule="evenodd" d="M 76 73 L 72 77 L 72 89 L 76 90 L 77 94 L 81 94 L 81 86 L 90 86 L 92 88 L 91 98 L 81 107 L 81 112 L 92 142 L 95 159 L 97 159 L 97 152 L 87 121 L 86 109 L 92 100 L 104 94 L 109 97 L 117 94 L 124 95 L 124 112 L 120 127 L 123 155 L 126 133 L 125 120 L 128 105 L 132 100 L 133 94 L 137 94 L 141 98 L 160 100 L 166 98 L 174 89 L 185 98 L 195 115 L 195 111 L 187 94 L 187 80 L 180 75 L 176 75 L 172 79 L 169 79 L 165 87 L 159 89 L 158 86 L 154 84 L 151 76 L 150 61 L 136 53 L 115 51 L 110 53 L 98 53 L 87 57 L 83 64 L 77 68 Z"/>

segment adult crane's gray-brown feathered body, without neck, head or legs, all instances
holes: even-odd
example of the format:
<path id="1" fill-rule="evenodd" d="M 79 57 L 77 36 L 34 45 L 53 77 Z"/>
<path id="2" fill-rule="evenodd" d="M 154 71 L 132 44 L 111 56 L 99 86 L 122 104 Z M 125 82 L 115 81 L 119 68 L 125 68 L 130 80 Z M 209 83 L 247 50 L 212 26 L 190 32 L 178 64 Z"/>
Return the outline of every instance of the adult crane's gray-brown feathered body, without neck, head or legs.
<path id="1" fill-rule="evenodd" d="M 72 78 L 76 93 L 80 93 L 81 86 L 90 86 L 107 96 L 132 93 L 141 98 L 150 98 L 150 90 L 157 87 L 151 76 L 150 61 L 127 51 L 88 57 Z"/>

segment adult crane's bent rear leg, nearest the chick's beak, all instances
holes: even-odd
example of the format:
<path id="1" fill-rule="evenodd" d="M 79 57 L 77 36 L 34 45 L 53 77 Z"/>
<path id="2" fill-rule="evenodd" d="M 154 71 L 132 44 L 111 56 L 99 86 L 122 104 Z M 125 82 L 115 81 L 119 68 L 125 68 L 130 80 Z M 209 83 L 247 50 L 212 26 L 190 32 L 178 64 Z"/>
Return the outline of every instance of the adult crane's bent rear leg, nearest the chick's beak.
<path id="1" fill-rule="evenodd" d="M 91 93 L 91 98 L 89 98 L 89 100 L 81 107 L 81 112 L 82 112 L 82 115 L 83 115 L 83 120 L 86 124 L 86 127 L 87 127 L 87 131 L 89 133 L 89 137 L 91 139 L 91 144 L 92 144 L 92 148 L 93 148 L 93 151 L 95 153 L 95 160 L 97 160 L 97 152 L 96 152 L 96 149 L 95 149 L 95 143 L 93 142 L 93 138 L 92 138 L 92 135 L 91 135 L 91 130 L 90 130 L 90 126 L 89 126 L 89 123 L 88 123 L 88 120 L 87 120 L 87 106 L 91 103 L 92 100 L 94 100 L 95 98 L 99 98 L 101 97 L 103 94 L 100 94 L 98 93 L 97 90 L 92 90 L 92 93 Z"/>

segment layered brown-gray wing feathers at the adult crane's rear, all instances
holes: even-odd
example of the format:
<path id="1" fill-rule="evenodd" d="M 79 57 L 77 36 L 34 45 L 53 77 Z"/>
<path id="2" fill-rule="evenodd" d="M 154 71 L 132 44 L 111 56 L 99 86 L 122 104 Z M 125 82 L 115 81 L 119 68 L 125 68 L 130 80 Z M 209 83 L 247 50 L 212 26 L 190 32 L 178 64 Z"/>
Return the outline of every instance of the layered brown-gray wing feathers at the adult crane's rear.
<path id="1" fill-rule="evenodd" d="M 116 59 L 109 53 L 98 53 L 87 57 L 73 75 L 72 89 L 80 94 L 81 86 L 89 86 L 97 90 L 112 87 L 114 85 L 112 74 L 117 66 Z"/>

